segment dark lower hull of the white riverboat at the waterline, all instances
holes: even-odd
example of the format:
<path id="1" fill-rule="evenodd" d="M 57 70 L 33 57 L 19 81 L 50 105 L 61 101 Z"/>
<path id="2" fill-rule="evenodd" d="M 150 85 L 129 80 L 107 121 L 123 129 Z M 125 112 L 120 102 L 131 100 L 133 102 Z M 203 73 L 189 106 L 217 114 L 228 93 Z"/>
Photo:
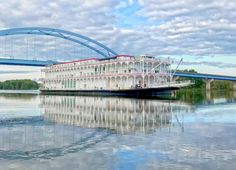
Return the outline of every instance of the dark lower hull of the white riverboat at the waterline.
<path id="1" fill-rule="evenodd" d="M 158 97 L 171 96 L 178 87 L 140 88 L 124 90 L 40 90 L 41 94 L 86 95 L 86 96 L 127 96 L 127 97 Z"/>

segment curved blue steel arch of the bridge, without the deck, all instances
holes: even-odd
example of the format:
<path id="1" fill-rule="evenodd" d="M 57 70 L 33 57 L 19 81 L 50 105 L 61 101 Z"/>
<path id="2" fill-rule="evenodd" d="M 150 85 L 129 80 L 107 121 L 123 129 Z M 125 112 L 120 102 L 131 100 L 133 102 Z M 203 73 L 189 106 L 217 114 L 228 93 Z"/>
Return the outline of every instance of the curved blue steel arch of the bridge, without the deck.
<path id="1" fill-rule="evenodd" d="M 78 43 L 84 47 L 93 50 L 94 52 L 101 55 L 103 58 L 113 57 L 118 55 L 115 51 L 103 45 L 102 43 L 91 39 L 82 34 L 47 27 L 22 27 L 22 28 L 11 28 L 0 30 L 0 36 L 10 36 L 10 35 L 45 35 L 57 38 L 62 38 L 75 43 Z"/>

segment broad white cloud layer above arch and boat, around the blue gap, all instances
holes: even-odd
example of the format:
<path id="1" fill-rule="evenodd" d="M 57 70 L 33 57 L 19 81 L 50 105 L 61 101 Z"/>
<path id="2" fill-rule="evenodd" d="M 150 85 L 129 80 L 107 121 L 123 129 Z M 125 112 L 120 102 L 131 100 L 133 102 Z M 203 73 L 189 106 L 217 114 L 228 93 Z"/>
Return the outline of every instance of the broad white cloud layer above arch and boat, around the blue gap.
<path id="1" fill-rule="evenodd" d="M 149 21 L 146 21 L 146 25 L 130 29 L 117 26 L 122 21 L 118 20 L 114 9 L 132 8 L 136 1 L 46 2 L 3 2 L 0 15 L 4 17 L 1 17 L 0 23 L 3 27 L 63 28 L 91 36 L 120 53 L 155 54 L 157 50 L 170 55 L 236 53 L 236 3 L 229 0 L 138 1 L 140 8 L 135 15 L 146 17 Z M 127 43 L 133 47 L 128 47 Z M 140 46 L 143 45 L 146 48 L 143 47 L 141 51 Z"/>

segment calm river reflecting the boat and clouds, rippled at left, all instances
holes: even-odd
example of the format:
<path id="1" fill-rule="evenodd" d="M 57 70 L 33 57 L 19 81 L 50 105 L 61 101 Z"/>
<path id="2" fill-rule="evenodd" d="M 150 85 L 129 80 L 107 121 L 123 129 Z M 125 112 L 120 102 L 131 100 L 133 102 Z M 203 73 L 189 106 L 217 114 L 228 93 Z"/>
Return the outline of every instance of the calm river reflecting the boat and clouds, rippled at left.
<path id="1" fill-rule="evenodd" d="M 236 98 L 0 94 L 0 170 L 235 169 Z"/>

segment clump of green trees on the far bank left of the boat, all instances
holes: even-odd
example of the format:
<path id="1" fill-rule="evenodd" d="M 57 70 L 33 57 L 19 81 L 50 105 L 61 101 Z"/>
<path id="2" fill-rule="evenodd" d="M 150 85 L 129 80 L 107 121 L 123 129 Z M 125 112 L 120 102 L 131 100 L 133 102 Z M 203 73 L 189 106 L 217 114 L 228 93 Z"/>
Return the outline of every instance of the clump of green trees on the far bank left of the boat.
<path id="1" fill-rule="evenodd" d="M 37 90 L 39 84 L 33 80 L 7 80 L 0 82 L 1 90 Z"/>

